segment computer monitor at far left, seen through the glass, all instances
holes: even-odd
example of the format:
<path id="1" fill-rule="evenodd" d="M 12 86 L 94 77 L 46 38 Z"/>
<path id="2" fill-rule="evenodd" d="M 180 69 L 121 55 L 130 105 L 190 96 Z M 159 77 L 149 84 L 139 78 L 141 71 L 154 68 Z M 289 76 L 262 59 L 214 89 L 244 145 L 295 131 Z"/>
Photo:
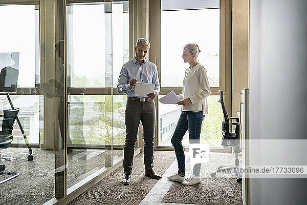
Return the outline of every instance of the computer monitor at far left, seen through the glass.
<path id="1" fill-rule="evenodd" d="M 17 92 L 19 53 L 0 53 L 0 92 Z"/>

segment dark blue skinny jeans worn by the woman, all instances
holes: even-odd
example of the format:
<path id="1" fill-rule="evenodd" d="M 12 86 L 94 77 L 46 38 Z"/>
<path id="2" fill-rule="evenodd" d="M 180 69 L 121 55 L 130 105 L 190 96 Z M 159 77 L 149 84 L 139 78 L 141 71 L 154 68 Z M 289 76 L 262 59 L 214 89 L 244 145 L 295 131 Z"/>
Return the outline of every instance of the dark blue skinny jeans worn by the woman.
<path id="1" fill-rule="evenodd" d="M 178 173 L 185 174 L 185 161 L 184 150 L 182 147 L 182 138 L 189 129 L 190 144 L 200 143 L 200 135 L 202 129 L 202 122 L 205 115 L 202 111 L 190 112 L 182 111 L 179 117 L 176 129 L 171 138 L 171 144 L 174 147 L 177 161 L 178 161 Z M 201 163 L 197 163 L 193 168 L 193 174 L 199 176 L 201 173 Z"/>

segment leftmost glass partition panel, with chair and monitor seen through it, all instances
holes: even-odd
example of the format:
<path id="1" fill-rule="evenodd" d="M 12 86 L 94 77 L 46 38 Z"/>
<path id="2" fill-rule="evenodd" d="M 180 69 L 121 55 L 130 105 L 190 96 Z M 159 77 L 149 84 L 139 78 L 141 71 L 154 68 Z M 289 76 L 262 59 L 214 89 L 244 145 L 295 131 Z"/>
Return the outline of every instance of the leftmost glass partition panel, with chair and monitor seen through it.
<path id="1" fill-rule="evenodd" d="M 54 115 L 44 113 L 46 98 L 36 88 L 40 83 L 39 18 L 38 5 L 0 6 L 0 84 L 7 84 L 6 77 L 13 77 L 8 75 L 9 68 L 18 71 L 17 92 L 0 95 L 0 204 L 43 204 L 55 197 L 56 151 L 47 149 L 50 141 L 46 136 L 51 135 L 44 129 L 45 118 L 54 119 Z M 11 53 L 18 53 L 18 58 Z M 7 113 L 12 111 L 10 103 L 18 110 L 20 126 L 16 116 L 10 116 L 14 122 L 6 127 Z M 55 124 L 54 120 L 49 126 Z M 10 137 L 4 131 L 8 128 L 12 132 L 11 142 L 5 140 Z M 49 139 L 54 146 L 54 135 Z M 4 173 L 19 176 L 7 180 L 13 175 Z"/>

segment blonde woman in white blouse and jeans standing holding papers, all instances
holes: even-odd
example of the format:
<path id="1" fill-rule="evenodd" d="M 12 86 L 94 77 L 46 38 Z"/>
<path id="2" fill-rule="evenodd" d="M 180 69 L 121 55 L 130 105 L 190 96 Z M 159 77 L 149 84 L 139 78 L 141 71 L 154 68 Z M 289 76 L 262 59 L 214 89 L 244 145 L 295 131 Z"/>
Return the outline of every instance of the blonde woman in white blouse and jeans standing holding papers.
<path id="1" fill-rule="evenodd" d="M 210 95 L 210 86 L 205 67 L 196 60 L 200 52 L 197 44 L 187 44 L 183 49 L 182 58 L 185 63 L 189 63 L 190 67 L 185 71 L 182 94 L 178 95 L 182 101 L 177 104 L 182 106 L 182 112 L 171 138 L 178 161 L 178 173 L 167 178 L 171 181 L 180 181 L 183 185 L 195 185 L 201 182 L 200 163 L 194 166 L 193 175 L 186 178 L 185 157 L 181 142 L 186 131 L 189 130 L 190 144 L 200 143 L 202 122 L 208 114 L 207 97 Z"/>

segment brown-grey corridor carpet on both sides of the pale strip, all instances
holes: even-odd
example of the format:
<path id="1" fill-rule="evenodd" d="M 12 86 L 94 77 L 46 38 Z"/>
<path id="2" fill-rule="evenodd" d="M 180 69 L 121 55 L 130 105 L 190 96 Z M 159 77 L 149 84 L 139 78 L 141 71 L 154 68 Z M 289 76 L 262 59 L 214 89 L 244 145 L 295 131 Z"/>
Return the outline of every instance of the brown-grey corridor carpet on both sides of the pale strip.
<path id="1" fill-rule="evenodd" d="M 158 173 L 163 174 L 173 160 L 176 160 L 174 152 L 155 151 L 155 170 Z M 209 162 L 202 166 L 201 184 L 183 186 L 178 182 L 173 182 L 162 202 L 227 205 L 243 204 L 242 183 L 236 182 L 234 173 L 217 174 L 217 178 L 214 179 L 210 176 L 210 173 L 219 165 L 233 163 L 234 156 L 230 154 L 211 154 Z M 139 169 L 136 169 L 136 167 Z M 189 160 L 187 160 L 186 168 L 187 175 L 191 174 Z M 145 198 L 157 182 L 157 180 L 144 177 L 143 153 L 135 157 L 131 185 L 121 185 L 122 177 L 123 171 L 122 167 L 120 167 L 98 182 L 95 186 L 75 198 L 69 204 L 135 205 L 139 204 Z"/>

